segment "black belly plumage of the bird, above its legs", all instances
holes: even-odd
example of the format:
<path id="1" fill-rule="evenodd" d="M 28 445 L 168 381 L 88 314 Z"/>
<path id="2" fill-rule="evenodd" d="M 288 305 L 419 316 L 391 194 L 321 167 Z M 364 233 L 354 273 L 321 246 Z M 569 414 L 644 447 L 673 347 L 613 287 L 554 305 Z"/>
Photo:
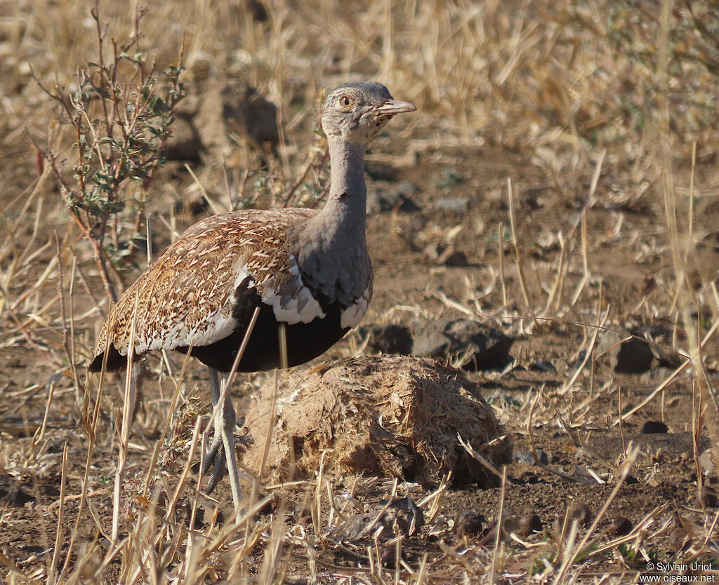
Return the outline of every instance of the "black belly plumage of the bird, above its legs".
<path id="1" fill-rule="evenodd" d="M 237 327 L 234 332 L 214 344 L 192 349 L 193 356 L 219 372 L 229 372 L 232 369 L 237 350 L 242 344 L 247 325 L 257 306 L 260 307 L 260 314 L 257 315 L 257 323 L 252 329 L 252 336 L 242 354 L 237 371 L 262 372 L 280 367 L 278 321 L 275 319 L 273 308 L 262 303 L 255 287 L 249 284 L 250 279 L 247 277 L 235 291 L 232 317 Z M 342 308 L 339 305 L 324 305 L 322 309 L 326 313 L 323 319 L 317 318 L 310 323 L 295 325 L 285 324 L 288 366 L 298 366 L 324 354 L 349 331 L 349 328 L 340 326 Z M 188 350 L 187 347 L 176 349 L 183 353 L 187 353 Z"/>

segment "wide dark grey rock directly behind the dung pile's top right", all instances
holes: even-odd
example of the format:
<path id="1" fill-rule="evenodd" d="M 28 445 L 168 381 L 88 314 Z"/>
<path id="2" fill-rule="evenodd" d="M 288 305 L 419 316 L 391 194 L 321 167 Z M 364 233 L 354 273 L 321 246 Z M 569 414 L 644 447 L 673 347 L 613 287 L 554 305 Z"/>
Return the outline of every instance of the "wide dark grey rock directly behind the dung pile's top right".
<path id="1" fill-rule="evenodd" d="M 413 326 L 415 356 L 448 359 L 474 351 L 464 369 L 492 369 L 509 361 L 514 339 L 471 319 L 429 319 Z"/>

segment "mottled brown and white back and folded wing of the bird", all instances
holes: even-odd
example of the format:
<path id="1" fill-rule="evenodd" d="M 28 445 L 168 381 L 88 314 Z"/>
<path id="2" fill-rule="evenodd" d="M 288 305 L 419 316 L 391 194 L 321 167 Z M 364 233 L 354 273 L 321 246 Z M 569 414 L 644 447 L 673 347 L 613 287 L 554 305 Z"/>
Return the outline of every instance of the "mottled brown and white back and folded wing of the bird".
<path id="1" fill-rule="evenodd" d="M 199 222 L 142 273 L 115 305 L 96 346 L 99 369 L 111 345 L 127 356 L 137 305 L 134 354 L 209 345 L 234 331 L 232 298 L 247 276 L 265 293 L 280 290 L 290 274 L 287 233 L 316 212 L 307 209 L 240 211 Z M 291 278 L 291 275 L 290 275 Z"/>

